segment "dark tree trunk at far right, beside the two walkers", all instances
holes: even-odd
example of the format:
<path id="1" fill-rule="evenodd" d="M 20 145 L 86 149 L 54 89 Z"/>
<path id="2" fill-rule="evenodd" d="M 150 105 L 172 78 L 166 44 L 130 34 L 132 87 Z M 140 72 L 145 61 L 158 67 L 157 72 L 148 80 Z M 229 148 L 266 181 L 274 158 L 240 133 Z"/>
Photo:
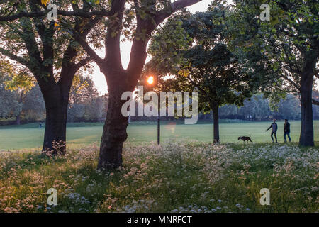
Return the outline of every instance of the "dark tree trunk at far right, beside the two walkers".
<path id="1" fill-rule="evenodd" d="M 313 146 L 313 76 L 301 77 L 301 133 L 299 145 Z"/>

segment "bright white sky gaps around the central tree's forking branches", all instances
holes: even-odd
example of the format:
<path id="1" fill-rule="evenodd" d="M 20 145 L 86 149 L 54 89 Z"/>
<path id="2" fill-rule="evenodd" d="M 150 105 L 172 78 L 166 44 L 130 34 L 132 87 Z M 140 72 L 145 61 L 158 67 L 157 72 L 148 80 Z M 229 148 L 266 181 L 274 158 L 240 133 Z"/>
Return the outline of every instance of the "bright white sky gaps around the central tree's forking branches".
<path id="1" fill-rule="evenodd" d="M 202 0 L 198 2 L 197 4 L 194 4 L 193 6 L 189 6 L 187 9 L 191 13 L 196 13 L 198 11 L 206 11 L 208 5 L 211 3 L 211 0 Z M 132 46 L 131 42 L 123 42 L 121 43 L 121 59 L 122 59 L 122 65 L 126 69 L 128 67 L 128 62 L 130 61 L 130 48 Z M 104 52 L 101 50 L 101 53 Z M 101 54 L 100 56 L 102 56 Z M 150 56 L 147 57 L 147 61 L 150 60 Z M 107 92 L 107 84 L 106 79 L 104 77 L 104 74 L 100 72 L 99 67 L 93 63 L 94 70 L 91 74 L 92 79 L 94 80 L 96 89 L 99 91 L 100 94 L 105 94 Z"/>

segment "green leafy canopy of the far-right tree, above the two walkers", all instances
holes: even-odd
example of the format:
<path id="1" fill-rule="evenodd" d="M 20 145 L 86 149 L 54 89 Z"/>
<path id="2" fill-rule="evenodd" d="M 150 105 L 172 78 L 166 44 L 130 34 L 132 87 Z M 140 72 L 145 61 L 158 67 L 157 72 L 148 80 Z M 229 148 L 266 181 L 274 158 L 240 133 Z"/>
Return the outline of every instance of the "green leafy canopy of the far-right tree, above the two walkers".
<path id="1" fill-rule="evenodd" d="M 252 53 L 260 53 L 257 64 L 266 61 L 272 89 L 266 95 L 300 92 L 305 64 L 318 59 L 318 3 L 315 1 L 267 1 L 270 21 L 260 21 L 262 1 L 234 1 L 231 30 L 233 47 L 242 50 L 243 60 L 254 62 Z M 314 66 L 315 67 L 315 66 Z M 271 78 L 271 77 L 268 77 Z M 267 83 L 269 84 L 269 83 Z M 277 103 L 278 103 L 277 99 Z"/>

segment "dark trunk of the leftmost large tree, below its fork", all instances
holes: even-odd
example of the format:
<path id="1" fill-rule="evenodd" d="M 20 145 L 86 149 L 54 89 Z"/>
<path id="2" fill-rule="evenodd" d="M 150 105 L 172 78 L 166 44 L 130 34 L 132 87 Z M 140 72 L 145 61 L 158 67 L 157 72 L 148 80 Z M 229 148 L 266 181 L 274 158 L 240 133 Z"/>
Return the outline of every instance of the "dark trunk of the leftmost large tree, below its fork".
<path id="1" fill-rule="evenodd" d="M 62 155 L 66 152 L 67 134 L 67 106 L 69 95 L 62 95 L 60 91 L 50 91 L 45 96 L 45 136 L 43 152 L 52 155 Z"/>

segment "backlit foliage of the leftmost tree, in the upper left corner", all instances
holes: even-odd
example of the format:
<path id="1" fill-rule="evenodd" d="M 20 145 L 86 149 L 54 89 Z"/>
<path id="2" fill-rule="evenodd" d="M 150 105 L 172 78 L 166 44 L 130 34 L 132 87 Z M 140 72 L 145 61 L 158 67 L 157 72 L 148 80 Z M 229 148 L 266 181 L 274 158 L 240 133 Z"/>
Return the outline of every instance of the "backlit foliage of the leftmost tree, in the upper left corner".
<path id="1" fill-rule="evenodd" d="M 1 3 L 0 15 L 6 16 L 11 11 L 11 14 L 16 14 L 21 11 L 39 11 L 46 9 L 47 3 L 54 3 L 59 10 L 68 10 L 71 1 L 39 1 L 39 4 L 34 2 L 22 1 L 17 6 L 12 6 L 9 3 Z M 74 8 L 77 9 L 78 4 L 84 4 L 91 7 L 99 4 L 98 1 L 72 1 Z M 85 6 L 84 6 L 85 8 Z M 86 9 L 87 10 L 87 9 Z M 70 29 L 73 29 L 76 24 L 76 29 L 83 31 L 89 21 L 86 18 L 69 18 L 59 17 L 57 21 L 48 21 L 47 16 L 40 18 L 20 18 L 16 21 L 3 22 L 1 21 L 1 34 L 2 41 L 0 45 L 0 55 L 11 58 L 11 65 L 13 68 L 24 67 L 23 70 L 28 69 L 33 74 L 42 74 L 41 77 L 45 78 L 54 76 L 55 81 L 60 79 L 60 72 L 64 62 L 77 63 L 86 57 L 86 52 L 80 45 L 74 42 L 70 35 Z M 103 23 L 96 25 L 96 28 L 91 30 L 87 36 L 89 43 L 94 45 L 94 48 L 101 48 L 101 35 L 104 34 Z M 75 56 L 68 56 L 66 53 L 68 47 L 77 50 Z M 51 51 L 52 49 L 52 51 Z M 40 55 L 40 56 L 39 56 Z M 71 58 L 69 58 L 71 57 Z M 38 65 L 40 61 L 40 65 Z M 42 67 L 41 69 L 39 67 Z M 82 67 L 80 71 L 88 71 L 91 65 Z M 51 70 L 52 69 L 52 70 Z M 53 72 L 53 73 L 52 73 Z M 11 88 L 14 84 L 11 84 Z"/>

